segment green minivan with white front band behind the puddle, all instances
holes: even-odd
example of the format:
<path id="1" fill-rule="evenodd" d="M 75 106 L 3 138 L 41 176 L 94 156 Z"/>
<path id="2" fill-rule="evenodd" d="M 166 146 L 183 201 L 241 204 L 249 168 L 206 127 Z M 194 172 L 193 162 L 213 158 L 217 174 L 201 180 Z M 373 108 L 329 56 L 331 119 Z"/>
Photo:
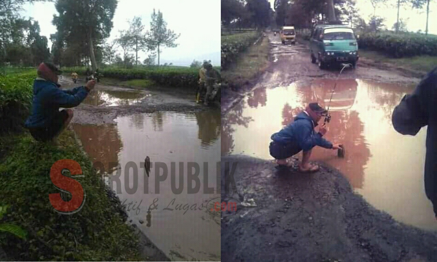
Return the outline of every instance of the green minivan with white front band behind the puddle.
<path id="1" fill-rule="evenodd" d="M 320 69 L 339 63 L 350 63 L 355 68 L 359 58 L 354 31 L 342 24 L 316 25 L 310 38 L 310 50 L 311 62 L 317 62 Z"/>

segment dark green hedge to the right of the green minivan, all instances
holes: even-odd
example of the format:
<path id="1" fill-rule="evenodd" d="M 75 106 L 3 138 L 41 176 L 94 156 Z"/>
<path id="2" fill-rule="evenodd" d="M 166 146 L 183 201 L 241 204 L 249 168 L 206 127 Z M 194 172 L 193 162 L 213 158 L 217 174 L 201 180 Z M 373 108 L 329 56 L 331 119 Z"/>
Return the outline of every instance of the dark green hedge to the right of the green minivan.
<path id="1" fill-rule="evenodd" d="M 420 34 L 362 33 L 359 48 L 381 51 L 395 58 L 414 55 L 437 56 L 437 37 Z"/>

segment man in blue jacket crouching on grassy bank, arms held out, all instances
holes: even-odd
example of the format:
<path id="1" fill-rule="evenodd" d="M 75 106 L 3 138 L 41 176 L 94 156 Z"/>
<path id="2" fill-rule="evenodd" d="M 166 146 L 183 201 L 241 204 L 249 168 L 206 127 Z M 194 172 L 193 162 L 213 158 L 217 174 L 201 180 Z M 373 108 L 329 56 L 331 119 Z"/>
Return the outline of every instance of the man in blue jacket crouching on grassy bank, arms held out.
<path id="1" fill-rule="evenodd" d="M 41 63 L 38 66 L 38 78 L 33 83 L 32 113 L 25 122 L 26 128 L 38 141 L 50 141 L 67 127 L 73 117 L 73 110 L 94 88 L 95 80 L 85 86 L 72 90 L 62 90 L 58 84 L 58 76 L 62 73 L 51 63 Z"/>

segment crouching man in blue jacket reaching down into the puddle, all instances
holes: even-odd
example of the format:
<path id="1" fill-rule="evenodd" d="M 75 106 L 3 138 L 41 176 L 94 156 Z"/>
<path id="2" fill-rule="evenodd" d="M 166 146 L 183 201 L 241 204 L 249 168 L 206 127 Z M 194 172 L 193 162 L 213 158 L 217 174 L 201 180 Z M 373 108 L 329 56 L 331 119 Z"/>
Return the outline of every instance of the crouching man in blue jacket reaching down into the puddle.
<path id="1" fill-rule="evenodd" d="M 323 135 L 326 134 L 326 128 L 320 127 L 319 132 L 314 130 L 325 114 L 327 111 L 318 103 L 309 103 L 291 124 L 271 135 L 273 141 L 269 147 L 270 155 L 276 159 L 279 166 L 289 166 L 287 159 L 303 151 L 299 170 L 301 172 L 316 172 L 319 167 L 309 164 L 312 148 L 316 145 L 328 149 L 340 148 L 340 144 L 333 144 L 323 138 Z"/>

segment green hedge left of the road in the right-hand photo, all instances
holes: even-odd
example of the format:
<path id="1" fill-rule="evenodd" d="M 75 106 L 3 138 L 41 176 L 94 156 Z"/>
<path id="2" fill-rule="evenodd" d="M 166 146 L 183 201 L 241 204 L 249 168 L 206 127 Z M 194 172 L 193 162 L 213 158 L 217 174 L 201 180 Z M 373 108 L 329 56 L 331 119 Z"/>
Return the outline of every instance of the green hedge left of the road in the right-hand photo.
<path id="1" fill-rule="evenodd" d="M 222 36 L 222 69 L 234 62 L 240 52 L 245 51 L 261 35 L 261 32 L 252 31 L 241 34 Z"/>

